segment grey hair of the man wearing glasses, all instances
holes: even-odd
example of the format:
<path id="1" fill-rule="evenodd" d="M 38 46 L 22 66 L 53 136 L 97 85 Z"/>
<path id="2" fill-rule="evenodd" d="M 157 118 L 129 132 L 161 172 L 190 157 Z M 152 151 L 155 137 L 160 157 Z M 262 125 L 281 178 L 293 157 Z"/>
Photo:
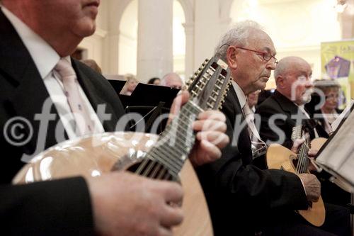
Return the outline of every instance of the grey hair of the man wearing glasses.
<path id="1" fill-rule="evenodd" d="M 263 27 L 256 21 L 240 21 L 222 36 L 219 44 L 215 48 L 215 55 L 225 62 L 228 45 L 238 45 L 244 47 L 247 45 L 251 30 L 262 30 Z"/>

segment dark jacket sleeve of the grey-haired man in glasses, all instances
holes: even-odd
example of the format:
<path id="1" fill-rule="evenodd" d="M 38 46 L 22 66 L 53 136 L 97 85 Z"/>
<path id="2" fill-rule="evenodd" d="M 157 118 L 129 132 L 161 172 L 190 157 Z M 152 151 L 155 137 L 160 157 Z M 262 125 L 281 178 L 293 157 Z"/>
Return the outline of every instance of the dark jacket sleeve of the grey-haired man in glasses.
<path id="1" fill-rule="evenodd" d="M 229 119 L 227 126 L 231 139 L 233 129 Z M 304 188 L 297 175 L 278 169 L 258 169 L 249 163 L 243 152 L 236 145 L 228 145 L 222 150 L 222 158 L 209 165 L 208 169 L 215 175 L 215 188 L 257 211 L 307 208 Z"/>

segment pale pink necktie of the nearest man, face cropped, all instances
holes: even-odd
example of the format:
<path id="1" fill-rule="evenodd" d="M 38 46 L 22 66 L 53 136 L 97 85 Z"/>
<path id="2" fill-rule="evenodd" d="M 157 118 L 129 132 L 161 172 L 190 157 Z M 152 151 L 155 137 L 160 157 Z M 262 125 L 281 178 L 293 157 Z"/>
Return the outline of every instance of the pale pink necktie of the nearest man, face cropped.
<path id="1" fill-rule="evenodd" d="M 93 133 L 93 122 L 90 118 L 89 110 L 79 93 L 79 82 L 72 65 L 64 58 L 60 59 L 55 70 L 62 77 L 64 94 L 67 96 L 70 109 L 74 115 L 76 123 L 76 133 L 78 135 L 88 135 Z"/>

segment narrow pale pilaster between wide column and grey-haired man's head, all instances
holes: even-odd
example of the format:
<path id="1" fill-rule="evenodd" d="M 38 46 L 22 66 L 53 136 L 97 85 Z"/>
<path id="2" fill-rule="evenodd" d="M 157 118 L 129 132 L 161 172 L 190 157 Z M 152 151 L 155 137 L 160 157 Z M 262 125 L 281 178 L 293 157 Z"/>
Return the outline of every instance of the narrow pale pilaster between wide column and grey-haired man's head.
<path id="1" fill-rule="evenodd" d="M 194 23 L 184 23 L 185 30 L 185 79 L 194 74 Z"/>

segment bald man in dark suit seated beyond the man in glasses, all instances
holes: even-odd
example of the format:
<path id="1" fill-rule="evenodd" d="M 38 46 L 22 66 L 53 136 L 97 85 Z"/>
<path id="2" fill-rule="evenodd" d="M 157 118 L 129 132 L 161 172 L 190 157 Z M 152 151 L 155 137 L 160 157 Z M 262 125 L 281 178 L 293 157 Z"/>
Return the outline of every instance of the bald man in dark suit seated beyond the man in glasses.
<path id="1" fill-rule="evenodd" d="M 280 60 L 274 72 L 277 89 L 256 109 L 256 113 L 261 116 L 260 133 L 265 142 L 277 142 L 289 149 L 292 147 L 292 128 L 310 120 L 311 115 L 304 104 L 311 100 L 314 86 L 311 75 L 311 66 L 300 57 Z M 277 119 L 272 121 L 275 117 Z M 313 120 L 313 125 L 314 128 L 309 129 L 310 140 L 329 137 L 318 120 Z M 315 155 L 316 151 L 313 150 L 311 154 Z M 321 196 L 326 203 L 343 206 L 350 203 L 350 194 L 329 181 L 328 173 L 316 173 L 316 176 L 321 181 Z"/>

